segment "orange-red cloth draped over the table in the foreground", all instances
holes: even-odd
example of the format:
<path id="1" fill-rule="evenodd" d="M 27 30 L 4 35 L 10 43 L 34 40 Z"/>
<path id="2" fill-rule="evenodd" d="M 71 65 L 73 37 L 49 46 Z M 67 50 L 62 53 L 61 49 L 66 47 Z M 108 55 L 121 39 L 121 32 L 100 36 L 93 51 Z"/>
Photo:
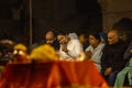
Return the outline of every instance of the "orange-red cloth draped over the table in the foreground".
<path id="1" fill-rule="evenodd" d="M 9 64 L 0 88 L 108 88 L 91 61 Z"/>

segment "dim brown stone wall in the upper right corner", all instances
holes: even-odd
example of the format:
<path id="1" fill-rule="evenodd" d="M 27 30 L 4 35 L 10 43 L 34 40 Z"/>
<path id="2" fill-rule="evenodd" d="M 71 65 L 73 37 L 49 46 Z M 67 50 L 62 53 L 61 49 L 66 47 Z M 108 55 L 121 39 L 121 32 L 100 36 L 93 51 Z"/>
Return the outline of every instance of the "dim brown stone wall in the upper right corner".
<path id="1" fill-rule="evenodd" d="M 102 8 L 103 31 L 109 31 L 122 18 L 132 19 L 132 0 L 98 0 Z"/>

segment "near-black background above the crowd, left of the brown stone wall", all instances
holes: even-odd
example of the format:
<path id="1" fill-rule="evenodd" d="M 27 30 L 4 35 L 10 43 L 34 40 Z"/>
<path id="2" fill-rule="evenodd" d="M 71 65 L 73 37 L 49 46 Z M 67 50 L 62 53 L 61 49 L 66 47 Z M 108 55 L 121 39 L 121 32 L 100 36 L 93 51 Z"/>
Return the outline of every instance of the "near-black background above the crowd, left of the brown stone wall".
<path id="1" fill-rule="evenodd" d="M 0 1 L 0 40 L 29 44 L 30 0 Z M 97 0 L 32 0 L 33 43 L 43 38 L 46 28 L 86 33 L 102 30 Z"/>

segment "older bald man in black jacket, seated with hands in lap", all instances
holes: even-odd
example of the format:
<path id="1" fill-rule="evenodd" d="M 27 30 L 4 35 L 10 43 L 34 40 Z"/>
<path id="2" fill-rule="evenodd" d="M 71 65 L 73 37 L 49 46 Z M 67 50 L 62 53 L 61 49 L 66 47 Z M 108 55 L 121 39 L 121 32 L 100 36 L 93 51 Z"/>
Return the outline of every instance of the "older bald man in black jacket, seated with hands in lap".
<path id="1" fill-rule="evenodd" d="M 108 45 L 105 46 L 101 57 L 101 74 L 110 86 L 114 85 L 117 74 L 124 67 L 123 54 L 127 44 L 120 40 L 117 30 L 108 33 Z"/>

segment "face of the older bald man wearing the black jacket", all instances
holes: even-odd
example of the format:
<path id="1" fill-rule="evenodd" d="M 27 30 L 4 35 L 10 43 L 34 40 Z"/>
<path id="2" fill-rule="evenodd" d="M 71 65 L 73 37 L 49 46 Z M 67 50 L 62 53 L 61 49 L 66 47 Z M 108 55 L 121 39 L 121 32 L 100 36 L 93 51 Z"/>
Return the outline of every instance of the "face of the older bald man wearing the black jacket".
<path id="1" fill-rule="evenodd" d="M 108 33 L 108 43 L 109 44 L 116 44 L 119 41 L 118 34 L 114 32 Z"/>

